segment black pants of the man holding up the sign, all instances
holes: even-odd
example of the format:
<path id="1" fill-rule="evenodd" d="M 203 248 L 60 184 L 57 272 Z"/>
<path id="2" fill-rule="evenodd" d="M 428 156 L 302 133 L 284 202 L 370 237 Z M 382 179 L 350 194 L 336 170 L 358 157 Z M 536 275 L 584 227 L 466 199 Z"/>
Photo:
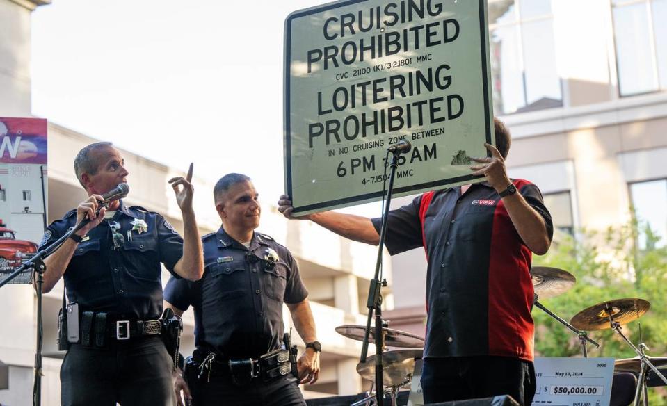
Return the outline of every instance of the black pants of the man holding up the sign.
<path id="1" fill-rule="evenodd" d="M 424 403 L 509 395 L 530 406 L 535 389 L 533 363 L 516 358 L 427 358 L 421 368 Z"/>

